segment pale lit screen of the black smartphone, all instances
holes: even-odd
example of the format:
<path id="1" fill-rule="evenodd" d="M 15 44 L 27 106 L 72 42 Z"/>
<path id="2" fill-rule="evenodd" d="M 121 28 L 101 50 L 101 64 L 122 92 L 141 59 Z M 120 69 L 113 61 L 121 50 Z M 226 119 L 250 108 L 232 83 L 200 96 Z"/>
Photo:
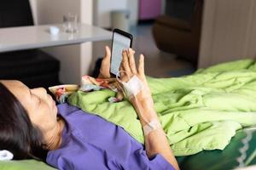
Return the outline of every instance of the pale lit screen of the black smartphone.
<path id="1" fill-rule="evenodd" d="M 130 48 L 131 39 L 129 37 L 122 36 L 121 34 L 113 33 L 112 43 L 112 58 L 110 72 L 117 75 L 119 72 L 119 66 L 122 62 L 122 51 L 123 49 Z"/>

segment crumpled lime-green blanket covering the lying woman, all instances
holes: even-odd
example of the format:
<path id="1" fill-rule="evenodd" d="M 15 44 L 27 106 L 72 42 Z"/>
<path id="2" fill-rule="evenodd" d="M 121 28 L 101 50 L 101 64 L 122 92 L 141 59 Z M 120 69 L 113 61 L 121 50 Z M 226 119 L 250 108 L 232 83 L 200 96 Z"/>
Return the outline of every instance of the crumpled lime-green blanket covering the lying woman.
<path id="1" fill-rule="evenodd" d="M 238 129 L 256 124 L 256 64 L 251 59 L 212 66 L 188 77 L 148 77 L 148 84 L 175 156 L 223 150 Z M 68 103 L 123 127 L 143 143 L 132 105 L 127 100 L 109 103 L 114 95 L 108 89 L 79 91 Z"/>

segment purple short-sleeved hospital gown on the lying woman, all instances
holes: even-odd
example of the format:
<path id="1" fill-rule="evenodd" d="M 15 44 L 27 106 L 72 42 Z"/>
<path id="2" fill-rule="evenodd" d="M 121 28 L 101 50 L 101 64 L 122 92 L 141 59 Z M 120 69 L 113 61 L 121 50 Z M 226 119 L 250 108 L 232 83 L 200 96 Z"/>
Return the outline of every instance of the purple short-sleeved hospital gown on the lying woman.
<path id="1" fill-rule="evenodd" d="M 160 154 L 148 159 L 143 144 L 122 127 L 71 105 L 58 105 L 66 121 L 61 146 L 46 161 L 58 169 L 174 169 Z"/>

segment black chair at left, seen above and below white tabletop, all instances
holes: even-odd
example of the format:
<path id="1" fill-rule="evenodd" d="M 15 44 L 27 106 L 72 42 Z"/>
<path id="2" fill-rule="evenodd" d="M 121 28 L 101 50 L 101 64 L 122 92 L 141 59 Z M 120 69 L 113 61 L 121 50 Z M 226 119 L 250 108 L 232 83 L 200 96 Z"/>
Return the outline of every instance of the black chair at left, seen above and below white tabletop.
<path id="1" fill-rule="evenodd" d="M 0 28 L 33 26 L 29 0 L 2 0 Z M 0 79 L 16 79 L 30 88 L 59 84 L 60 62 L 38 49 L 0 53 Z"/>

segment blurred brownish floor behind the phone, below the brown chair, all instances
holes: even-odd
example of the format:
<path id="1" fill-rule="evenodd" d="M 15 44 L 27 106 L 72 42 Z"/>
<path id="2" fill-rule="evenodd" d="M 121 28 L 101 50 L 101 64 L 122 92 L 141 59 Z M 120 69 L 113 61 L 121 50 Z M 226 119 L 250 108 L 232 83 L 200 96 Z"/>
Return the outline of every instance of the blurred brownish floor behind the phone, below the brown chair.
<path id="1" fill-rule="evenodd" d="M 151 29 L 153 23 L 131 26 L 131 34 L 134 37 L 132 47 L 136 50 L 136 58 L 139 54 L 145 56 L 145 73 L 150 77 L 180 77 L 195 71 L 193 66 L 186 60 L 177 59 L 175 54 L 160 51 L 152 37 Z M 111 42 L 94 42 L 93 56 L 96 59 L 103 56 L 104 46 L 111 47 Z M 94 67 L 94 65 L 92 65 Z"/>

